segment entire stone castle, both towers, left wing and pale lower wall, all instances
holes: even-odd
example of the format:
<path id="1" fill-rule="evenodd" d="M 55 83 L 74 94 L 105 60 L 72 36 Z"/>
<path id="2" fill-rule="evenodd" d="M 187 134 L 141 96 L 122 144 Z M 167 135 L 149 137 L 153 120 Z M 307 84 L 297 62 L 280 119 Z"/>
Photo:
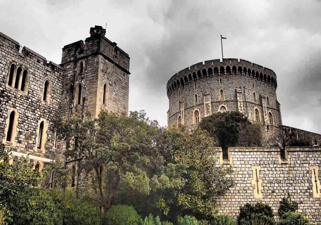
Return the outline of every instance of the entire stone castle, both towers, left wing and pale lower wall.
<path id="1" fill-rule="evenodd" d="M 69 120 L 101 109 L 128 113 L 129 56 L 105 37 L 100 26 L 90 37 L 62 49 L 55 64 L 0 32 L 0 139 L 13 156 L 29 155 L 34 169 L 62 158 L 65 143 L 51 131 L 57 117 Z M 282 125 L 276 96 L 276 74 L 266 67 L 238 59 L 209 60 L 174 74 L 167 83 L 168 126 L 197 126 L 214 112 L 240 111 L 262 127 L 265 140 L 280 127 L 320 145 L 321 135 Z M 299 212 L 321 224 L 320 147 L 229 148 L 219 163 L 234 170 L 236 186 L 218 199 L 217 209 L 234 218 L 245 203 L 264 201 L 277 215 L 287 193 Z M 50 176 L 49 187 L 54 177 Z"/>

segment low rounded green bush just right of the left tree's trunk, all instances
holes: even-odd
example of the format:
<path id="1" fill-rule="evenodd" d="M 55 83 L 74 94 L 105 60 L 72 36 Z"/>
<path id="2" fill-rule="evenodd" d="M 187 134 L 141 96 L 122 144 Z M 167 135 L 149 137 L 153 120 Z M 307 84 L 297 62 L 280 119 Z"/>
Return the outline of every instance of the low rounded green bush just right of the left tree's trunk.
<path id="1" fill-rule="evenodd" d="M 139 219 L 133 206 L 113 205 L 106 212 L 102 222 L 107 225 L 137 225 Z"/>

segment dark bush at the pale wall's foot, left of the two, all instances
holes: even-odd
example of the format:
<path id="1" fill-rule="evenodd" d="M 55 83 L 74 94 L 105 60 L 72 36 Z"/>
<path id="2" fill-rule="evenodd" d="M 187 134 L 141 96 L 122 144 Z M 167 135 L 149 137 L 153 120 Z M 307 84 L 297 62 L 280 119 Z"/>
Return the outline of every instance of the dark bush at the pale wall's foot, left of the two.
<path id="1" fill-rule="evenodd" d="M 240 207 L 240 214 L 238 217 L 238 224 L 252 224 L 252 217 L 256 215 L 256 220 L 260 217 L 261 221 L 265 221 L 267 224 L 274 224 L 274 215 L 271 207 L 268 204 L 256 203 L 252 205 L 250 203 Z M 272 221 L 272 222 L 271 222 Z"/>

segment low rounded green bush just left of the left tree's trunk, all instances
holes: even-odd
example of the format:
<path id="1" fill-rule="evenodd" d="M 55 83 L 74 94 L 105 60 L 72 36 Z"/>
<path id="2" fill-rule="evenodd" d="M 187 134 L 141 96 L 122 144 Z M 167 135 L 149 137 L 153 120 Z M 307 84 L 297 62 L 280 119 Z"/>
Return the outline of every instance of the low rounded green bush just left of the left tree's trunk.
<path id="1" fill-rule="evenodd" d="M 100 211 L 90 202 L 72 204 L 65 213 L 65 224 L 99 225 Z"/>

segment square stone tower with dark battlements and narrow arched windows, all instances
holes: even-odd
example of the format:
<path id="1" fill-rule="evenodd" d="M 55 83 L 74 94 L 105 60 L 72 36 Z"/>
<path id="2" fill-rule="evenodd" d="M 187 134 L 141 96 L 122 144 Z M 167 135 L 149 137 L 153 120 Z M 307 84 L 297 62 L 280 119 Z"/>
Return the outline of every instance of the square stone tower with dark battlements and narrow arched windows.
<path id="1" fill-rule="evenodd" d="M 64 68 L 61 110 L 63 119 L 86 111 L 128 113 L 129 55 L 105 37 L 101 26 L 90 28 L 90 37 L 62 49 Z"/>

